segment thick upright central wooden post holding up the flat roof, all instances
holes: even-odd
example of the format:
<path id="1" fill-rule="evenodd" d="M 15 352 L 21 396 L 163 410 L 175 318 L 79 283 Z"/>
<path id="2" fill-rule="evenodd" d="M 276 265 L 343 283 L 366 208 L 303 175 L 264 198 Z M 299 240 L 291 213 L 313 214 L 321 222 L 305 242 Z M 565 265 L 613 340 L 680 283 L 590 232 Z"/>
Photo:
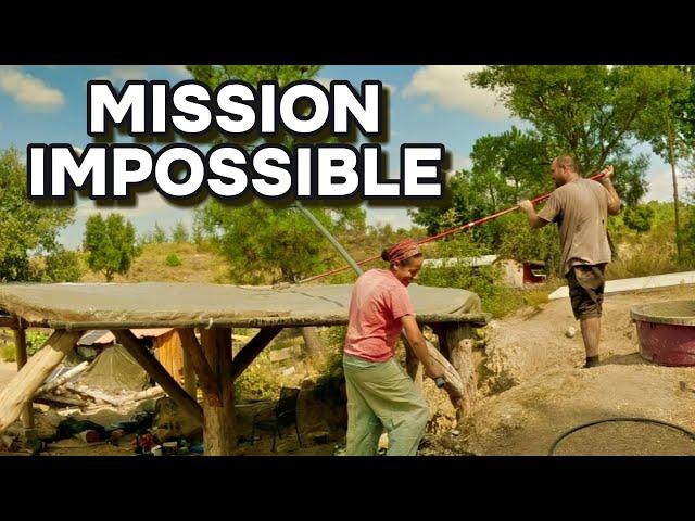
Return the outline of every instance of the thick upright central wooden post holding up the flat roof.
<path id="1" fill-rule="evenodd" d="M 211 328 L 200 332 L 207 364 L 219 382 L 219 396 L 211 397 L 204 393 L 203 398 L 205 455 L 230 456 L 237 446 L 231 329 Z"/>

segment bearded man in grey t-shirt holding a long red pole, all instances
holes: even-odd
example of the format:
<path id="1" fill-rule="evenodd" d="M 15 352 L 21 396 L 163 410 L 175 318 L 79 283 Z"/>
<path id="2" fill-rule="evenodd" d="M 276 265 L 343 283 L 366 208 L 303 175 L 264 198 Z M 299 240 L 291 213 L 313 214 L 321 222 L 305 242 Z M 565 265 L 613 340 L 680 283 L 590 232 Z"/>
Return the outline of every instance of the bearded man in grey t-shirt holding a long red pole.
<path id="1" fill-rule="evenodd" d="M 601 313 L 604 298 L 606 265 L 610 245 L 606 234 L 608 215 L 620 213 L 620 198 L 610 178 L 612 166 L 603 170 L 598 182 L 579 175 L 577 161 L 569 155 L 556 157 L 552 176 L 557 187 L 538 214 L 526 200 L 519 207 L 527 213 L 532 228 L 557 223 L 563 255 L 563 275 L 569 284 L 574 318 L 581 321 L 586 351 L 585 368 L 598 364 Z"/>

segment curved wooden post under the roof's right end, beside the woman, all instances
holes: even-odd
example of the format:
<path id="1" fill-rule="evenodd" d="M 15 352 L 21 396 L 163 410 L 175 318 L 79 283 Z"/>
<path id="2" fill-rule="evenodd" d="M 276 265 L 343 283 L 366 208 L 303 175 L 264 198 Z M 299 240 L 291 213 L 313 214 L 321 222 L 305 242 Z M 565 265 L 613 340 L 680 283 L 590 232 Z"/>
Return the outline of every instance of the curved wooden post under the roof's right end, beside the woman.
<path id="1" fill-rule="evenodd" d="M 460 376 L 463 382 L 463 395 L 453 398 L 458 420 L 465 418 L 472 407 L 477 376 L 472 359 L 472 328 L 469 325 L 451 323 L 438 328 L 440 345 L 445 345 L 448 351 L 448 359 Z"/>

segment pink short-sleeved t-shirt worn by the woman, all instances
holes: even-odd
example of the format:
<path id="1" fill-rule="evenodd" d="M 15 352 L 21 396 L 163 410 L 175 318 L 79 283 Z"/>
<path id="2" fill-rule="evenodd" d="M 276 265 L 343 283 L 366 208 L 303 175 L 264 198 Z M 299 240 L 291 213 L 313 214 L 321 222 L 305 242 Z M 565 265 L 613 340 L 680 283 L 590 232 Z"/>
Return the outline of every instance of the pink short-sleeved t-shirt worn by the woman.
<path id="1" fill-rule="evenodd" d="M 370 361 L 395 355 L 401 318 L 415 315 L 408 290 L 387 269 L 361 275 L 352 290 L 345 354 Z"/>

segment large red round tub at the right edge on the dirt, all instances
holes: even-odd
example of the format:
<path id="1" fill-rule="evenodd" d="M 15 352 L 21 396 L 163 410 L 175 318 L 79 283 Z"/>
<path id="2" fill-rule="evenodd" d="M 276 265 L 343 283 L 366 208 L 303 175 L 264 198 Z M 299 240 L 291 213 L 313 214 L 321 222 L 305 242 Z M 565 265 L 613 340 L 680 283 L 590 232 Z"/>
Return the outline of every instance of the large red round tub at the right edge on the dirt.
<path id="1" fill-rule="evenodd" d="M 633 306 L 640 354 L 661 366 L 695 366 L 695 301 Z"/>

